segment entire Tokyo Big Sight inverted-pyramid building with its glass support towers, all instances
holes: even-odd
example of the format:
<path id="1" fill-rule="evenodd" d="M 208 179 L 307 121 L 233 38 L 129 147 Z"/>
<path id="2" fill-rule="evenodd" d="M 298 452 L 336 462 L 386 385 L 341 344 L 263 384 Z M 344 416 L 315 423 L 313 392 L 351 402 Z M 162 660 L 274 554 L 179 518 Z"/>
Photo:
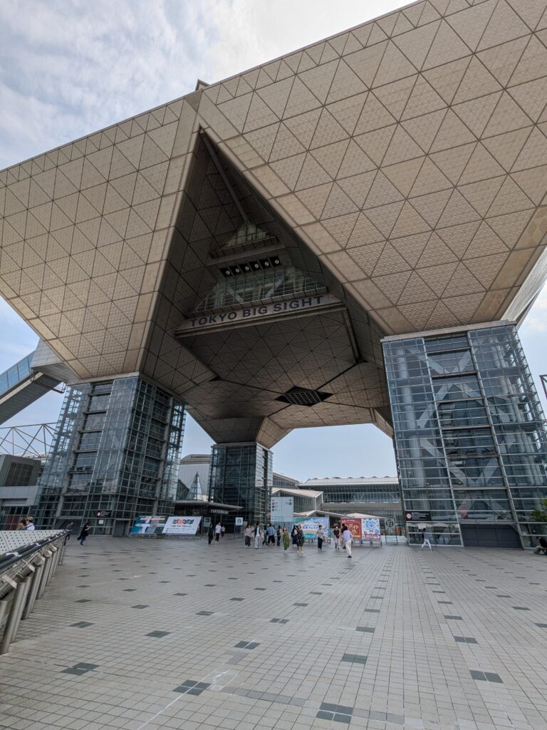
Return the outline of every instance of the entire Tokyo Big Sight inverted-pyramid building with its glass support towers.
<path id="1" fill-rule="evenodd" d="M 292 429 L 374 423 L 411 523 L 546 534 L 516 334 L 547 277 L 544 10 L 414 3 L 0 171 L 0 293 L 41 338 L 0 419 L 36 378 L 70 386 L 43 526 L 174 509 L 186 409 L 215 442 L 209 499 L 249 521 Z M 472 371 L 438 372 L 446 328 Z M 471 401 L 488 423 L 459 437 L 442 419 Z"/>

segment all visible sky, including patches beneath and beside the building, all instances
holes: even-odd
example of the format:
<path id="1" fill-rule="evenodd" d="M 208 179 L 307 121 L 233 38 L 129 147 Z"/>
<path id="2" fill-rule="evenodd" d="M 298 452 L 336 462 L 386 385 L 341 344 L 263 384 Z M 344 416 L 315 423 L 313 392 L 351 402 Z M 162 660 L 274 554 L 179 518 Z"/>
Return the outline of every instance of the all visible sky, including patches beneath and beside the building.
<path id="1" fill-rule="evenodd" d="M 1 0 L 0 169 L 190 93 L 198 78 L 216 82 L 404 4 Z M 547 288 L 520 334 L 541 390 Z M 37 342 L 1 299 L 0 338 L 0 372 Z M 55 421 L 61 401 L 48 393 L 5 425 Z M 188 418 L 183 453 L 208 453 L 211 445 Z M 274 447 L 274 469 L 300 480 L 396 473 L 391 439 L 371 425 L 292 431 Z"/>

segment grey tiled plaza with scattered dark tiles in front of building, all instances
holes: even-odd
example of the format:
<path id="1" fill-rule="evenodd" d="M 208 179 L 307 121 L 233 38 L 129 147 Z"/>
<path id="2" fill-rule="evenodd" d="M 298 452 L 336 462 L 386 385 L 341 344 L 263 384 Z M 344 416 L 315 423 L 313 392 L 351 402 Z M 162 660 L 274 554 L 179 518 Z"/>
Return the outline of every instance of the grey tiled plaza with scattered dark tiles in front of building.
<path id="1" fill-rule="evenodd" d="M 547 728 L 547 558 L 72 539 L 1 730 Z"/>

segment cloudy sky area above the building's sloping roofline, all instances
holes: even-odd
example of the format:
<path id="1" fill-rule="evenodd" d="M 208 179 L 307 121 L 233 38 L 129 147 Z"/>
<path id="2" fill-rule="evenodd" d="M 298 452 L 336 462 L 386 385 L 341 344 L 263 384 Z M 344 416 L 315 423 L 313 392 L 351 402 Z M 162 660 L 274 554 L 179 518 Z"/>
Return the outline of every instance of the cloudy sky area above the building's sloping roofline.
<path id="1" fill-rule="evenodd" d="M 3 0 L 0 169 L 403 4 Z"/>

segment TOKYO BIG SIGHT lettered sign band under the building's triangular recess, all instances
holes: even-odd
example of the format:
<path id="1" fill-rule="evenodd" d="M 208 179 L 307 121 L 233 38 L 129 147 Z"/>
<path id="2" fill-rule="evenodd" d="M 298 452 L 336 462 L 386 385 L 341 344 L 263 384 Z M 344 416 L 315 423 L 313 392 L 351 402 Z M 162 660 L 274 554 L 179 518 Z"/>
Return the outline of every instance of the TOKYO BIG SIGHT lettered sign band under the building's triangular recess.
<path id="1" fill-rule="evenodd" d="M 191 315 L 179 325 L 176 330 L 176 337 L 191 337 L 194 334 L 215 331 L 227 325 L 256 324 L 257 320 L 277 320 L 287 315 L 302 315 L 307 312 L 312 314 L 314 310 L 323 307 L 337 310 L 345 308 L 340 299 L 336 299 L 335 296 L 327 293 L 306 296 L 303 299 L 274 301 L 270 304 L 260 304 L 258 307 L 241 307 L 228 312 L 217 312 L 216 314 Z"/>

